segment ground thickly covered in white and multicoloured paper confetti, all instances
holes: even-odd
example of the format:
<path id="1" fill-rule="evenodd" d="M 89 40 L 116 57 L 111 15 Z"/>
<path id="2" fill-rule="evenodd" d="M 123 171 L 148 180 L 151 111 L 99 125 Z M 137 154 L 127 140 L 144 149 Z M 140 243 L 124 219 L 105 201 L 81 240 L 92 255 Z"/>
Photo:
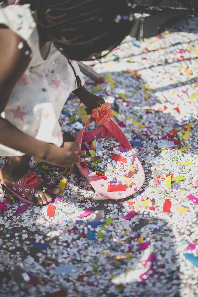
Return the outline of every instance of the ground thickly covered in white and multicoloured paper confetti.
<path id="1" fill-rule="evenodd" d="M 131 197 L 108 200 L 76 167 L 38 169 L 32 159 L 63 195 L 17 211 L 24 204 L 1 190 L 1 297 L 198 296 L 197 28 L 197 16 L 184 16 L 157 37 L 127 37 L 101 61 L 87 62 L 106 80 L 84 77 L 85 86 L 112 104 L 113 120 L 139 149 L 145 183 Z M 67 100 L 63 131 L 83 128 L 80 105 Z"/>

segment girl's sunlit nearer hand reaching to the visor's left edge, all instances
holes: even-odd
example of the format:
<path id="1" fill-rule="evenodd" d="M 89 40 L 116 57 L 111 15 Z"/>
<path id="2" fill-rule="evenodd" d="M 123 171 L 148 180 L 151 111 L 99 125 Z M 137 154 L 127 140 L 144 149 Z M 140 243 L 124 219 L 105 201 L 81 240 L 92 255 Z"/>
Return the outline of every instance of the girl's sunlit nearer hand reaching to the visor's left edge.
<path id="1" fill-rule="evenodd" d="M 77 142 L 64 142 L 62 147 L 48 144 L 42 160 L 53 165 L 72 167 L 73 163 L 84 162 L 84 158 L 81 158 L 81 156 L 86 155 L 86 152 L 74 150 L 79 146 L 80 144 Z"/>

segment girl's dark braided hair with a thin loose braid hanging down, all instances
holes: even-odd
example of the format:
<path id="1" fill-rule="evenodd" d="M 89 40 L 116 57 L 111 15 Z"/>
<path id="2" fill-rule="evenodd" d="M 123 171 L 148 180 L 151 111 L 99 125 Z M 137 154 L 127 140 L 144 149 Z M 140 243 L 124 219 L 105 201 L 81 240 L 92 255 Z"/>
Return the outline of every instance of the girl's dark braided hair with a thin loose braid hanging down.
<path id="1" fill-rule="evenodd" d="M 128 0 L 21 0 L 37 10 L 39 29 L 68 58 L 77 86 L 81 86 L 69 59 L 115 48 L 133 26 Z"/>

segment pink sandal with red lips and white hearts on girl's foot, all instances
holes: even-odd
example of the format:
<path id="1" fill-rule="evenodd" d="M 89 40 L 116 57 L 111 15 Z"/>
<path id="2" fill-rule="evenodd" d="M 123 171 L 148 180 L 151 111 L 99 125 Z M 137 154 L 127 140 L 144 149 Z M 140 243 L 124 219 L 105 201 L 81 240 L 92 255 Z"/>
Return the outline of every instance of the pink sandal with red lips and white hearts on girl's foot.
<path id="1" fill-rule="evenodd" d="M 35 205 L 32 201 L 28 200 L 28 195 L 31 193 L 33 188 L 41 183 L 43 183 L 42 179 L 36 173 L 30 170 L 22 178 L 12 184 L 11 187 L 2 184 L 2 189 L 7 192 L 8 195 L 14 195 L 16 198 L 26 204 Z"/>

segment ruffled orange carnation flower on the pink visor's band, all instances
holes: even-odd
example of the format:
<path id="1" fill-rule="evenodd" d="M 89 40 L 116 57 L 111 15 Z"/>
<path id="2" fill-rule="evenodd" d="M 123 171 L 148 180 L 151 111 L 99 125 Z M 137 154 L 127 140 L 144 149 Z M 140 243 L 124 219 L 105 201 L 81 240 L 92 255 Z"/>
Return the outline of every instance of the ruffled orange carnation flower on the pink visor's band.
<path id="1" fill-rule="evenodd" d="M 92 110 L 92 117 L 95 119 L 97 125 L 105 126 L 110 121 L 109 118 L 113 118 L 114 110 L 110 108 L 111 104 L 103 103 L 100 107 Z"/>

